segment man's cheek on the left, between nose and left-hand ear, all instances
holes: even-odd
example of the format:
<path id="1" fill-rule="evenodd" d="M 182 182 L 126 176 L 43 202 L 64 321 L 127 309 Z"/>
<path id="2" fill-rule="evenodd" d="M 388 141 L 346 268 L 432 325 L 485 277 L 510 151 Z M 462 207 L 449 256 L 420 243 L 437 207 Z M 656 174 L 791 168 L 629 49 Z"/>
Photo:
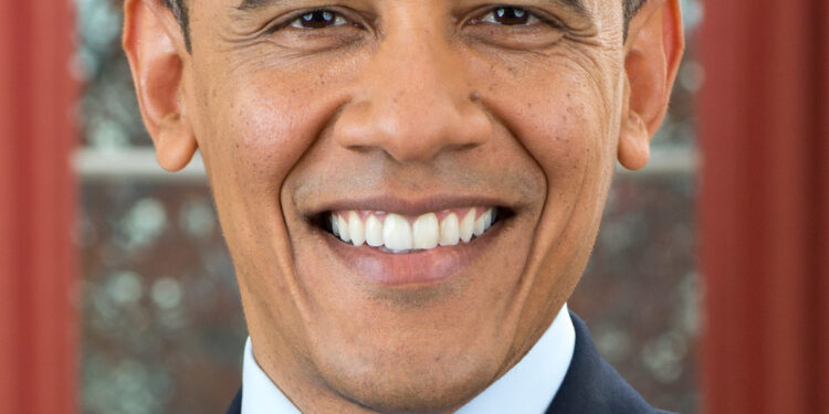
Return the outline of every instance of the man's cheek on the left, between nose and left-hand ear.
<path id="1" fill-rule="evenodd" d="M 221 73 L 221 71 L 218 71 Z M 280 191 L 338 106 L 333 81 L 260 68 L 200 86 L 200 151 L 237 264 L 271 266 L 287 254 Z M 290 81 L 290 82 L 288 82 Z M 204 86 L 201 86 L 204 85 Z M 197 89 L 198 91 L 198 89 Z M 314 98 L 308 98 L 313 96 Z M 253 272 L 251 274 L 270 274 Z"/>

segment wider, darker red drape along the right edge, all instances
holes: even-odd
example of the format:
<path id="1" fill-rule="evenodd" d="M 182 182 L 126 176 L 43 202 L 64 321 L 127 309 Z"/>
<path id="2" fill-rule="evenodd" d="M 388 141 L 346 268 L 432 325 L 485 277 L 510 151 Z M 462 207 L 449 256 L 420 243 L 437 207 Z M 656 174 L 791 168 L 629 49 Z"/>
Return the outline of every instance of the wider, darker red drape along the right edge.
<path id="1" fill-rule="evenodd" d="M 705 11 L 704 412 L 829 413 L 829 2 Z"/>

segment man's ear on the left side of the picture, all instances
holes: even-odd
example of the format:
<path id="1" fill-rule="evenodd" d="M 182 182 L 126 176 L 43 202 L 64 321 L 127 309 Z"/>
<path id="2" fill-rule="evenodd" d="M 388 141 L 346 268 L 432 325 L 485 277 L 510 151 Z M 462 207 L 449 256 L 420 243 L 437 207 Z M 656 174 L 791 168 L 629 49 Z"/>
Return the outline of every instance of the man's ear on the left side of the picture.
<path id="1" fill-rule="evenodd" d="M 183 60 L 189 52 L 175 15 L 160 0 L 126 0 L 123 46 L 158 163 L 178 171 L 190 162 L 198 146 L 181 99 Z"/>

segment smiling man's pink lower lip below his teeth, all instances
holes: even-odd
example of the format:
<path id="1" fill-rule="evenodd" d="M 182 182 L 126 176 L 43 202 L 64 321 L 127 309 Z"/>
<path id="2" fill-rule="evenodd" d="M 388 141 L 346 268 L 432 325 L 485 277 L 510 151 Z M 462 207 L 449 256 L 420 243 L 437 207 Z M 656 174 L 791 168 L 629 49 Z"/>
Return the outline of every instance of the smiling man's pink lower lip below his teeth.
<path id="1" fill-rule="evenodd" d="M 501 231 L 493 224 L 481 237 L 454 246 L 438 246 L 414 253 L 385 253 L 368 245 L 354 246 L 324 233 L 326 243 L 346 267 L 366 280 L 385 286 L 418 286 L 445 282 L 482 256 Z"/>

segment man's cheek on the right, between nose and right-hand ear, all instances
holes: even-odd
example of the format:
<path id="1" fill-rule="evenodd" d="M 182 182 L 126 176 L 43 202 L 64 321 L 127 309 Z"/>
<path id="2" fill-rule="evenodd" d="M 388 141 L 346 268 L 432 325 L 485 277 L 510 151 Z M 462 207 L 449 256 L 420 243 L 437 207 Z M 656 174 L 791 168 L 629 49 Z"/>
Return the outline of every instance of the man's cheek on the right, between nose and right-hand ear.
<path id="1" fill-rule="evenodd" d="M 615 166 L 613 121 L 607 105 L 615 91 L 583 75 L 555 63 L 534 73 L 527 70 L 515 78 L 502 77 L 496 91 L 514 93 L 492 99 L 494 110 L 546 178 L 537 255 L 554 254 L 560 263 L 589 250 Z M 559 247 L 552 252 L 553 246 Z"/>

